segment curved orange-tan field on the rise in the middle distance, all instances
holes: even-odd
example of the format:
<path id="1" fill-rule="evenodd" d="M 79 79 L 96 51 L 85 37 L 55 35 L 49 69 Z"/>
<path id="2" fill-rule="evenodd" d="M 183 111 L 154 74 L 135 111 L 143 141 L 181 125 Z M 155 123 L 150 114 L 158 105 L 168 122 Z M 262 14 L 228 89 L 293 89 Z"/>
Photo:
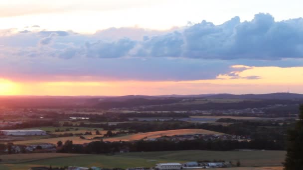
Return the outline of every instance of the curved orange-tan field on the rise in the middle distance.
<path id="1" fill-rule="evenodd" d="M 214 132 L 204 129 L 178 129 L 178 130 L 166 130 L 166 131 L 156 131 L 156 132 L 147 132 L 147 133 L 138 133 L 133 135 L 125 135 L 121 137 L 113 137 L 104 139 L 104 141 L 134 141 L 141 139 L 151 139 L 158 138 L 161 136 L 173 136 L 173 135 L 187 135 L 187 134 L 218 134 L 221 135 L 223 133 Z"/>

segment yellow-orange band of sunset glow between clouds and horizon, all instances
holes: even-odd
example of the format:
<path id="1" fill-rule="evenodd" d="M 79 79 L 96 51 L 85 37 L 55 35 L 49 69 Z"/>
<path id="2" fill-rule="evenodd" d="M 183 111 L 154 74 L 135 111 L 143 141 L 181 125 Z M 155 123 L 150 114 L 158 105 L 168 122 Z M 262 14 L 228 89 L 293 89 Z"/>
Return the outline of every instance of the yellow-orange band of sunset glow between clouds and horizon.
<path id="1" fill-rule="evenodd" d="M 303 67 L 231 66 L 215 79 L 184 81 L 48 81 L 12 82 L 0 79 L 0 95 L 161 95 L 197 93 L 270 93 L 291 88 L 303 93 Z M 244 70 L 243 70 L 244 68 Z M 237 70 L 241 69 L 241 70 Z M 258 89 L 258 90 L 256 90 Z"/>

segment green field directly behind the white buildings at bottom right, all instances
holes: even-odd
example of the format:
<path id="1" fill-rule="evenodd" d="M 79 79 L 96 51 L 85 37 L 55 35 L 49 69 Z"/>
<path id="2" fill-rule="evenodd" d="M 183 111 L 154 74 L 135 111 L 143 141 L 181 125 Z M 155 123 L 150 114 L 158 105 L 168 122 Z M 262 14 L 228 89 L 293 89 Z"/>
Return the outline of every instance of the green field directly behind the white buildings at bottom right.
<path id="1" fill-rule="evenodd" d="M 118 156 L 140 157 L 140 158 L 161 158 L 172 160 L 225 160 L 240 161 L 245 167 L 282 166 L 285 159 L 285 151 L 164 151 L 164 152 L 132 152 L 119 153 Z"/>

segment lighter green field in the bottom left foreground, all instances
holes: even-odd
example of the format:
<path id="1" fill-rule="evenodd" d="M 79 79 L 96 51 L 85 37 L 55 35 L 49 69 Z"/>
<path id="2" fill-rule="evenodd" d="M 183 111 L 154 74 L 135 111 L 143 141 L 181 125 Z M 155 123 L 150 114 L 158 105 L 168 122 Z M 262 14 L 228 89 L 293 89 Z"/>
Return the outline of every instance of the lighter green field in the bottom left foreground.
<path id="1" fill-rule="evenodd" d="M 39 155 L 41 158 L 36 160 L 18 160 L 15 164 L 3 163 L 0 164 L 1 170 L 28 170 L 30 167 L 49 166 L 63 167 L 63 166 L 78 166 L 78 167 L 102 167 L 102 168 L 130 168 L 130 167 L 154 167 L 157 163 L 175 162 L 175 160 L 166 159 L 147 159 L 147 158 L 129 158 L 129 157 L 115 157 L 106 155 L 74 155 L 61 156 L 57 158 L 57 153 L 54 156 L 47 156 L 46 158 Z M 33 154 L 34 155 L 34 154 Z M 5 156 L 2 156 L 5 158 Z M 17 155 L 16 155 L 17 157 Z M 38 156 L 34 156 L 35 158 Z M 180 161 L 179 161 L 180 162 Z M 184 161 L 182 161 L 184 162 Z"/>

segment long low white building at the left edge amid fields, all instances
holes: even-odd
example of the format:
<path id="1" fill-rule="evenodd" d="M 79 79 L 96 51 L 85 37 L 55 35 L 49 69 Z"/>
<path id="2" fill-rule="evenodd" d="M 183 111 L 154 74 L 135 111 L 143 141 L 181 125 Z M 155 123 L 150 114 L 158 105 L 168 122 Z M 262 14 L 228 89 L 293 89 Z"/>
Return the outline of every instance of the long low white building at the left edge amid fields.
<path id="1" fill-rule="evenodd" d="M 46 132 L 44 130 L 39 130 L 39 129 L 0 130 L 0 135 L 12 135 L 12 136 L 46 135 Z"/>

